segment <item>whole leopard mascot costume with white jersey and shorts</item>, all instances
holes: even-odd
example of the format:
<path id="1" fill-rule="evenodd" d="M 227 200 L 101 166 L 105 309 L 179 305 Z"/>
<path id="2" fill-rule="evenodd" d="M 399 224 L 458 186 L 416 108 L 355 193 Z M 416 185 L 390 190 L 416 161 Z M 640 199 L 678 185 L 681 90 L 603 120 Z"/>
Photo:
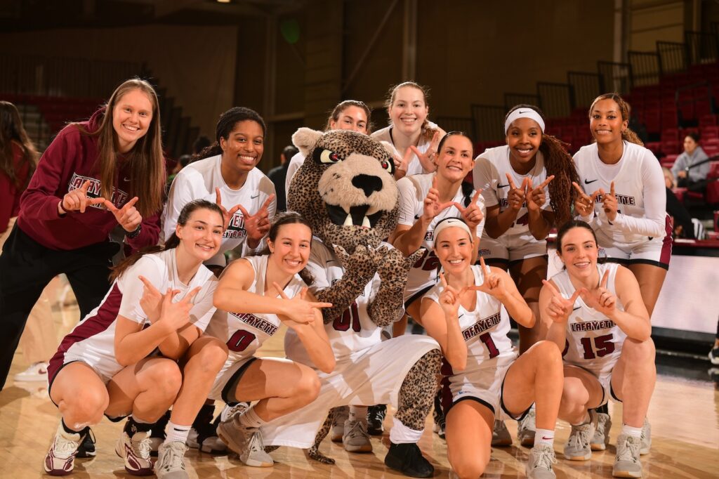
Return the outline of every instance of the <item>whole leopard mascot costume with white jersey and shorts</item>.
<path id="1" fill-rule="evenodd" d="M 376 140 L 352 131 L 301 128 L 294 144 L 305 161 L 292 179 L 288 209 L 312 225 L 308 270 L 336 357 L 321 381 L 319 397 L 288 416 L 262 426 L 267 446 L 309 448 L 321 462 L 319 442 L 331 424 L 329 409 L 391 403 L 397 408 L 385 465 L 405 475 L 431 477 L 434 467 L 417 442 L 434 402 L 440 368 L 439 345 L 426 336 L 382 341 L 382 329 L 404 312 L 407 273 L 424 250 L 404 257 L 383 242 L 395 229 L 399 192 L 390 153 Z M 313 366 L 301 342 L 288 331 L 285 352 Z M 326 419 L 325 419 L 326 418 Z"/>

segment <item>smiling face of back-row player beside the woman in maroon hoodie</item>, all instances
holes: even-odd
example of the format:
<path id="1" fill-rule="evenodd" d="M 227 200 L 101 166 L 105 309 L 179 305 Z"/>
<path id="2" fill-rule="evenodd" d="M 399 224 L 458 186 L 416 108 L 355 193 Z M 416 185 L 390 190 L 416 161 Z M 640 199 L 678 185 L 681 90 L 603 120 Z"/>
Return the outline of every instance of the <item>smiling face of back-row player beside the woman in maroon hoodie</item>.
<path id="1" fill-rule="evenodd" d="M 265 151 L 265 132 L 255 120 L 243 120 L 234 124 L 226 138 L 220 138 L 222 164 L 233 170 L 247 173 L 255 168 Z"/>

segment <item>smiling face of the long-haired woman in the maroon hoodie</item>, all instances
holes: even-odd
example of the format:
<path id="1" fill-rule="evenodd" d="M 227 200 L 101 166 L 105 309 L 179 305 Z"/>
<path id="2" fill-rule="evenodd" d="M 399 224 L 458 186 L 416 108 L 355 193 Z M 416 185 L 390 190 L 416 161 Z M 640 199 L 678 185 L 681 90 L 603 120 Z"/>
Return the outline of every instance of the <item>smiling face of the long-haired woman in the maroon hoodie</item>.
<path id="1" fill-rule="evenodd" d="M 139 88 L 128 91 L 117 100 L 112 109 L 112 127 L 120 152 L 129 152 L 137 140 L 147 134 L 152 123 L 152 110 L 152 99 Z"/>

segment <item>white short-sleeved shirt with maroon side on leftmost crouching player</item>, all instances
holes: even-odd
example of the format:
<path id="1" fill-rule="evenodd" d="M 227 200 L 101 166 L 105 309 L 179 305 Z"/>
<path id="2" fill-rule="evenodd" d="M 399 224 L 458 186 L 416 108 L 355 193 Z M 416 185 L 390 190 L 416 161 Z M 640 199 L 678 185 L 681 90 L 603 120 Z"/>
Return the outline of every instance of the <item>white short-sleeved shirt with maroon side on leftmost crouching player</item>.
<path id="1" fill-rule="evenodd" d="M 124 316 L 138 324 L 150 324 L 147 314 L 139 304 L 144 285 L 138 276 L 142 275 L 165 293 L 168 288 L 179 290 L 173 301 L 180 301 L 189 291 L 201 286 L 202 289 L 193 298 L 190 322 L 204 331 L 215 312 L 212 296 L 217 287 L 217 279 L 212 272 L 200 266 L 189 284 L 180 282 L 177 272 L 175 248 L 144 255 L 137 263 L 127 268 L 112 283 L 110 291 L 102 302 L 90 311 L 82 321 L 63 339 L 60 350 L 73 357 L 82 357 L 90 365 L 99 365 L 109 376 L 122 370 L 115 359 L 115 326 L 117 316 Z"/>

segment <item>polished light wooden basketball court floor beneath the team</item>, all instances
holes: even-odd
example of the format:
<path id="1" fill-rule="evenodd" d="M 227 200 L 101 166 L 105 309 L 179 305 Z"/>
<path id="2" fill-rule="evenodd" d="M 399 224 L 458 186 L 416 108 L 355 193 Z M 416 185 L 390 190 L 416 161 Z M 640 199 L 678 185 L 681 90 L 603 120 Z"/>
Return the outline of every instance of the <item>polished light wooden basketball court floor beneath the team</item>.
<path id="1" fill-rule="evenodd" d="M 58 335 L 64 335 L 78 318 L 78 309 L 65 306 L 54 309 Z M 263 347 L 265 355 L 282 354 L 281 335 Z M 707 345 L 708 347 L 708 345 Z M 709 363 L 707 362 L 707 368 Z M 0 392 L 0 478 L 39 478 L 43 475 L 42 460 L 58 426 L 58 409 L 47 397 L 42 383 L 13 383 L 12 376 L 24 370 L 22 355 L 15 357 L 8 383 Z M 717 371 L 719 376 L 719 370 Z M 218 406 L 219 407 L 219 406 Z M 391 411 L 390 411 L 391 413 Z M 608 450 L 594 452 L 592 460 L 574 462 L 562 457 L 569 426 L 557 424 L 557 478 L 610 478 L 614 459 L 615 438 L 621 422 L 621 405 L 610 402 L 612 416 L 611 442 Z M 649 408 L 652 426 L 652 447 L 642 456 L 644 478 L 719 478 L 719 388 L 710 380 L 682 378 L 660 374 Z M 390 426 L 391 414 L 385 420 Z M 449 462 L 446 445 L 431 432 L 428 419 L 420 447 L 434 464 L 436 478 L 448 478 Z M 515 438 L 516 422 L 508 428 Z M 114 443 L 121 424 L 103 420 L 93 426 L 97 439 L 97 455 L 89 460 L 75 460 L 73 478 L 132 478 L 115 455 Z M 336 465 L 322 465 L 306 458 L 302 450 L 280 447 L 272 453 L 274 467 L 256 468 L 243 465 L 237 457 L 212 456 L 189 450 L 186 465 L 191 478 L 403 478 L 385 468 L 383 459 L 389 444 L 388 432 L 372 439 L 374 451 L 367 454 L 345 452 L 341 444 L 326 439 L 321 451 L 336 459 Z M 528 449 L 514 445 L 495 448 L 484 478 L 523 478 Z M 46 476 L 47 477 L 47 476 Z"/>

